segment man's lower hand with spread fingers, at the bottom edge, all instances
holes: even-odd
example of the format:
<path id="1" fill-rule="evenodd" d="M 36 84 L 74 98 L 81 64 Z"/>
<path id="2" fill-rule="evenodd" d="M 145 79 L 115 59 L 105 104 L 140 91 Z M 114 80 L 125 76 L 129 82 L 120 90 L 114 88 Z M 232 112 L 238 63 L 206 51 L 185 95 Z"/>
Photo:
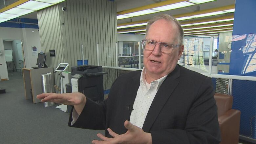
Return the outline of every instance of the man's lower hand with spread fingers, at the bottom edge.
<path id="1" fill-rule="evenodd" d="M 102 134 L 97 134 L 101 139 L 93 140 L 93 144 L 152 144 L 152 137 L 150 133 L 144 132 L 141 128 L 133 125 L 129 121 L 124 122 L 124 127 L 128 130 L 125 134 L 116 134 L 110 128 L 108 132 L 114 138 L 106 137 Z"/>

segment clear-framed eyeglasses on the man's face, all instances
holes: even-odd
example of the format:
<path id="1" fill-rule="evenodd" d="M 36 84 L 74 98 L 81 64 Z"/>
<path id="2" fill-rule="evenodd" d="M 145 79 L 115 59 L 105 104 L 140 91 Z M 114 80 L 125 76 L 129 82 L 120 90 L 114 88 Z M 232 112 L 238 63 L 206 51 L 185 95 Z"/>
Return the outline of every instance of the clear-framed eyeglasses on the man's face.
<path id="1" fill-rule="evenodd" d="M 162 43 L 162 42 L 156 42 L 153 40 L 142 40 L 142 45 L 145 50 L 153 51 L 156 47 L 156 45 L 160 45 L 160 49 L 163 53 L 172 53 L 172 50 L 174 48 L 179 47 L 179 45 L 173 45 L 168 43 Z"/>

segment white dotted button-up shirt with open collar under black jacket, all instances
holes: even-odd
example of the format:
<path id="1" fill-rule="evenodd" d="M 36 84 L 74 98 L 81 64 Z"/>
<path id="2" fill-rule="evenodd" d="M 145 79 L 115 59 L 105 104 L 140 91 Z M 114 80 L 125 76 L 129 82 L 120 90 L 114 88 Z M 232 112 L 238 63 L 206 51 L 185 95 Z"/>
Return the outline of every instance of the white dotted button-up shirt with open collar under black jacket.
<path id="1" fill-rule="evenodd" d="M 133 111 L 131 112 L 130 122 L 133 125 L 136 125 L 139 128 L 142 128 L 145 118 L 147 116 L 148 110 L 151 106 L 151 103 L 167 77 L 167 75 L 161 77 L 160 79 L 152 81 L 150 84 L 146 82 L 145 79 L 146 69 L 145 67 L 142 69 L 140 74 L 140 85 L 139 89 L 133 104 Z"/>

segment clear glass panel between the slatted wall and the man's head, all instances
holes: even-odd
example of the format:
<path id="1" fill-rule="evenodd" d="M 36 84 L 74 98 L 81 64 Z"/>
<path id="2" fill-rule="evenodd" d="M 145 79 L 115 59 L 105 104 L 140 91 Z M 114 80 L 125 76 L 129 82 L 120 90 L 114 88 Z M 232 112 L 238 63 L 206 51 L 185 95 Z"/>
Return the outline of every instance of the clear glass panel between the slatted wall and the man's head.
<path id="1" fill-rule="evenodd" d="M 117 47 L 118 66 L 139 69 L 139 42 L 119 41 Z"/>

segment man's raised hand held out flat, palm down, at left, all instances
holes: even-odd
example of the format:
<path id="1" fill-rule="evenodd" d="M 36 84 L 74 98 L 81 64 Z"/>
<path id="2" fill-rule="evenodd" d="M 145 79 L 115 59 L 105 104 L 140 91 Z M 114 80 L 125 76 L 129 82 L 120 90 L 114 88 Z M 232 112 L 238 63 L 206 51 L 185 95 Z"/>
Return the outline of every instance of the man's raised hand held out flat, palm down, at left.
<path id="1" fill-rule="evenodd" d="M 41 102 L 55 102 L 65 105 L 74 105 L 75 111 L 80 115 L 85 103 L 86 97 L 82 93 L 42 93 L 36 98 L 41 99 Z"/>

